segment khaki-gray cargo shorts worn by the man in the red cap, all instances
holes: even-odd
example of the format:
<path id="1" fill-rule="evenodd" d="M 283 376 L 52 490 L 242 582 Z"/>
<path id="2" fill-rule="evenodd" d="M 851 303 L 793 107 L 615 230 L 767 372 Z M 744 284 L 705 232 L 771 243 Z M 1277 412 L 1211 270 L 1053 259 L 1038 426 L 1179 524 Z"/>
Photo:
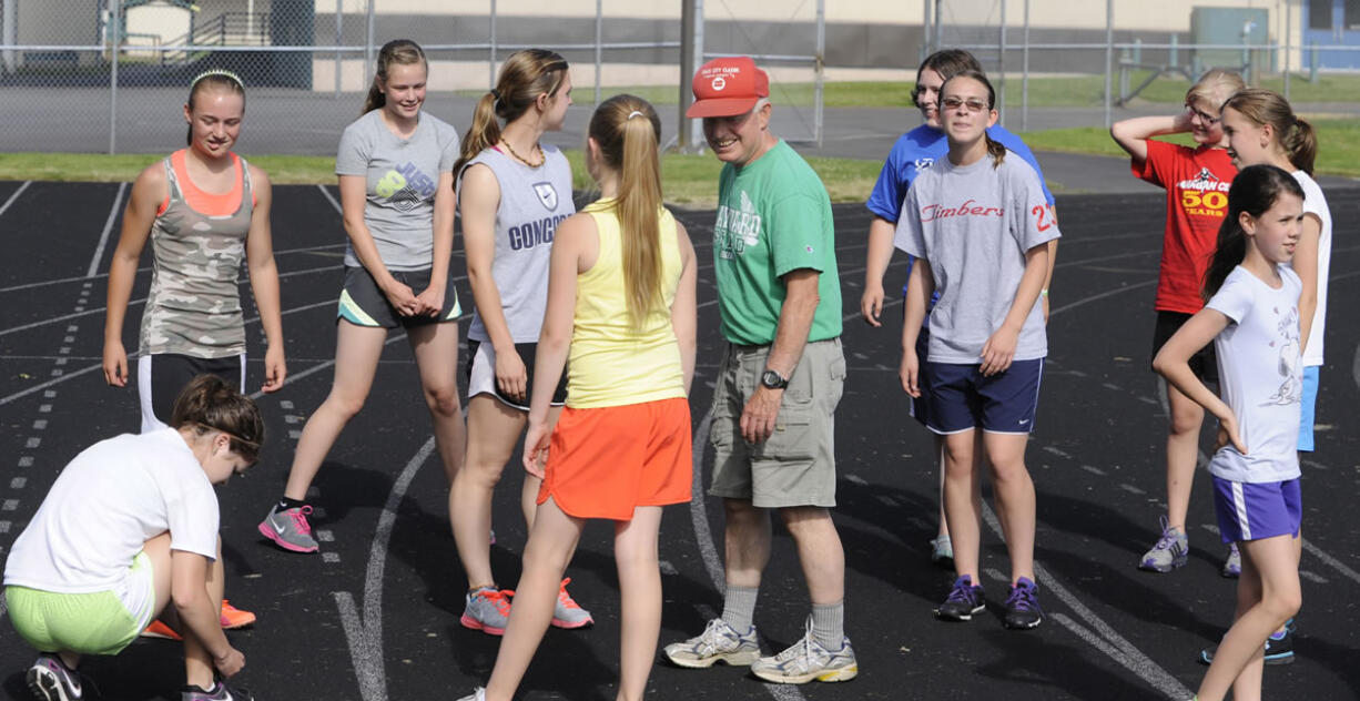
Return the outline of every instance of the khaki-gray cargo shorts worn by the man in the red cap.
<path id="1" fill-rule="evenodd" d="M 845 389 L 840 339 L 808 343 L 783 392 L 774 434 L 760 444 L 741 437 L 741 411 L 760 384 L 770 346 L 729 344 L 713 397 L 710 440 L 717 452 L 714 497 L 751 500 L 760 508 L 835 506 L 835 411 Z"/>

